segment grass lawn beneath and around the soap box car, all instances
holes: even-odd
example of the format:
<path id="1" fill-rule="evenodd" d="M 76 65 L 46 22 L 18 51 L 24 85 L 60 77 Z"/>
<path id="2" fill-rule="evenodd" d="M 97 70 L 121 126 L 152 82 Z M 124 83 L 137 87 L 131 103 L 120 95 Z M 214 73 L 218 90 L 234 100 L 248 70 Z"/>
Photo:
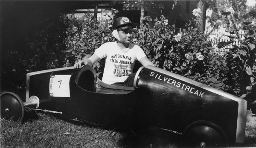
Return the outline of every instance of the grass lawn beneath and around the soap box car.
<path id="1" fill-rule="evenodd" d="M 255 114 L 249 115 L 245 142 L 234 147 L 256 147 L 255 120 Z M 22 123 L 1 119 L 0 136 L 1 148 L 177 148 L 180 138 L 90 127 L 34 111 L 26 111 Z"/>

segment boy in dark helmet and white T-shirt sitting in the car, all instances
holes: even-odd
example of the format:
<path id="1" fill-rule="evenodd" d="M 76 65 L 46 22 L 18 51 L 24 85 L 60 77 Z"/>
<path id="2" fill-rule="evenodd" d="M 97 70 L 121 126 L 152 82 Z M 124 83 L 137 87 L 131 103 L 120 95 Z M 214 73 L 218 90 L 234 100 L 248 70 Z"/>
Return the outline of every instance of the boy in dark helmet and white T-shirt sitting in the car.
<path id="1" fill-rule="evenodd" d="M 127 17 L 118 17 L 113 22 L 113 36 L 116 42 L 108 42 L 95 50 L 88 59 L 79 61 L 74 67 L 92 66 L 100 59 L 106 58 L 102 81 L 106 84 L 133 86 L 133 68 L 138 60 L 145 67 L 154 64 L 148 60 L 143 50 L 132 40 L 132 23 Z"/>

